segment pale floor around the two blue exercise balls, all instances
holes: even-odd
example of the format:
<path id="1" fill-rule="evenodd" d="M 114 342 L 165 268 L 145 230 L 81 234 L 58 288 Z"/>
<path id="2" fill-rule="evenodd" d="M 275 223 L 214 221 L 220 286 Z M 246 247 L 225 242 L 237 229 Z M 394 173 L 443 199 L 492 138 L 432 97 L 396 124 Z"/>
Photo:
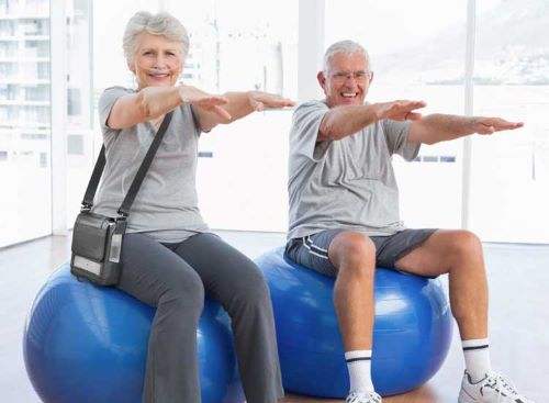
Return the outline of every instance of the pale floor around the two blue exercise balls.
<path id="1" fill-rule="evenodd" d="M 283 244 L 282 234 L 220 232 L 251 258 Z M 491 344 L 496 369 L 538 403 L 549 401 L 549 246 L 485 245 Z M 0 249 L 0 402 L 38 403 L 22 359 L 26 312 L 47 277 L 69 256 L 69 239 L 45 237 Z M 463 362 L 457 334 L 442 369 L 423 388 L 386 403 L 455 403 Z M 284 403 L 334 403 L 288 395 Z M 75 402 L 78 403 L 78 402 Z M 115 403 L 115 402 L 97 402 Z M 138 402 L 136 402 L 138 403 Z"/>

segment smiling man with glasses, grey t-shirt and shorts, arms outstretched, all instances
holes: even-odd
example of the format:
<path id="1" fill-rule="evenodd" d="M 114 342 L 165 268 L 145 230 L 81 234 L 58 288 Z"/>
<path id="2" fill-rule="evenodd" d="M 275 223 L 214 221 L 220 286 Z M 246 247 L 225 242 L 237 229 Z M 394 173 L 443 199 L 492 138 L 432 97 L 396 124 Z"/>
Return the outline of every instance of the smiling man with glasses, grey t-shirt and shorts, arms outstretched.
<path id="1" fill-rule="evenodd" d="M 290 134 L 285 253 L 336 278 L 334 304 L 350 378 L 347 403 L 381 402 L 370 374 L 377 265 L 424 277 L 448 273 L 466 360 L 460 403 L 531 402 L 490 363 L 481 242 L 463 230 L 405 228 L 391 166 L 393 154 L 414 159 L 422 143 L 523 124 L 500 117 L 422 116 L 422 101 L 365 103 L 372 78 L 362 46 L 350 41 L 332 45 L 317 75 L 326 98 L 300 105 Z"/>

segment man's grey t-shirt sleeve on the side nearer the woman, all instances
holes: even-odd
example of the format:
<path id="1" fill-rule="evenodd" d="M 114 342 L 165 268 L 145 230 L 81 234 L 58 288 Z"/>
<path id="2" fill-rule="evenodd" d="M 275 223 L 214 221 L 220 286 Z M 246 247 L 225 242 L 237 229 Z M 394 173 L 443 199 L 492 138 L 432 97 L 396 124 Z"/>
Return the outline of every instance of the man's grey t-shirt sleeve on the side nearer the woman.
<path id="1" fill-rule="evenodd" d="M 298 107 L 293 113 L 290 131 L 290 149 L 314 161 L 321 160 L 332 141 L 316 142 L 322 120 L 328 107 L 321 101 L 310 101 Z"/>

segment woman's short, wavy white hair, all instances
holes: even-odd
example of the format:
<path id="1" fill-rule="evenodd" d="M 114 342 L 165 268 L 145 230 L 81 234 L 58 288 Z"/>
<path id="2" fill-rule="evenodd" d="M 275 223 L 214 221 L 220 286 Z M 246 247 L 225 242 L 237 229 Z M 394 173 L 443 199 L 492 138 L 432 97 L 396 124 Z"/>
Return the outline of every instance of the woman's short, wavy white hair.
<path id="1" fill-rule="evenodd" d="M 183 58 L 187 56 L 189 35 L 178 19 L 167 12 L 152 14 L 148 11 L 138 11 L 130 19 L 124 31 L 122 47 L 127 63 L 132 63 L 137 52 L 137 37 L 145 31 L 153 35 L 164 35 L 172 42 L 179 42 Z"/>

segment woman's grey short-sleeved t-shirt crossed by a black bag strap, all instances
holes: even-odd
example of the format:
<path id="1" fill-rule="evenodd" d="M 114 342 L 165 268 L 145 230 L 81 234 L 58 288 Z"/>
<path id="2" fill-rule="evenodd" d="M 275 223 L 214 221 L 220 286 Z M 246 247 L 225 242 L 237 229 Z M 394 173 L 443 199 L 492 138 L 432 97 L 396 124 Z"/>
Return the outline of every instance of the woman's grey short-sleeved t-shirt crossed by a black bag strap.
<path id="1" fill-rule="evenodd" d="M 99 100 L 107 149 L 107 165 L 93 206 L 99 214 L 116 216 L 156 135 L 149 122 L 123 130 L 107 126 L 114 102 L 134 92 L 113 87 Z M 159 242 L 176 243 L 209 231 L 198 208 L 195 172 L 200 128 L 191 108 L 182 104 L 173 110 L 170 125 L 130 210 L 127 233 L 146 233 Z"/>

